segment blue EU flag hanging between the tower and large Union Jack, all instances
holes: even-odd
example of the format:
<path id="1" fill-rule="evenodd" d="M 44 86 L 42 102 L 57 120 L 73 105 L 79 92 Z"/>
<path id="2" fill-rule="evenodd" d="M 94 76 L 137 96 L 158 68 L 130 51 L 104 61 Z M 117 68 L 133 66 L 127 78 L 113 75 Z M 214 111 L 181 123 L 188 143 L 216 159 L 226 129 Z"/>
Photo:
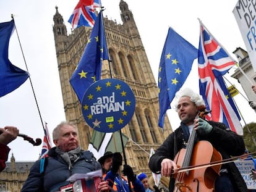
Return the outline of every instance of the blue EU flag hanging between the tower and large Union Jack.
<path id="1" fill-rule="evenodd" d="M 175 93 L 179 91 L 190 73 L 198 50 L 182 36 L 169 28 L 158 71 L 160 116 L 158 126 L 163 128 L 164 115 L 171 109 Z"/>

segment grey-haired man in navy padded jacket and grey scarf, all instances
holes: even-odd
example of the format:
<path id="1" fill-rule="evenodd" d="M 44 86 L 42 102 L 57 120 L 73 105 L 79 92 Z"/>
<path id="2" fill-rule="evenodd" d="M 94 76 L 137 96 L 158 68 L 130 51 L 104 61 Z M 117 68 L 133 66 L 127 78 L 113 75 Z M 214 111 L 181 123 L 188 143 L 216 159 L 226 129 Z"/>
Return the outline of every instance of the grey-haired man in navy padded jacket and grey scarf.
<path id="1" fill-rule="evenodd" d="M 53 130 L 56 147 L 49 149 L 45 159 L 44 172 L 40 173 L 41 160 L 31 167 L 22 191 L 60 191 L 74 173 L 88 173 L 101 169 L 92 152 L 80 149 L 77 127 L 70 122 L 61 122 Z M 109 191 L 108 182 L 102 180 L 99 191 Z"/>

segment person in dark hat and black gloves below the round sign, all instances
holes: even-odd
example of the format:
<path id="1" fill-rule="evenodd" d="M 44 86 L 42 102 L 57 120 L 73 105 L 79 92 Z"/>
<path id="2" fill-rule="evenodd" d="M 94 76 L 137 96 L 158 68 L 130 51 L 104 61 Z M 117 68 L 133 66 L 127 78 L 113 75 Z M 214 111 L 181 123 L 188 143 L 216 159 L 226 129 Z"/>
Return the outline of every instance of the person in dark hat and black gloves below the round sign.
<path id="1" fill-rule="evenodd" d="M 111 156 L 112 162 L 109 159 Z M 105 155 L 98 161 L 100 162 L 104 172 L 107 172 L 103 177 L 105 178 L 105 181 L 108 182 L 108 185 L 112 188 L 113 191 L 145 192 L 142 182 L 140 182 L 140 180 L 136 177 L 132 167 L 129 165 L 124 165 L 123 170 L 124 175 L 127 176 L 128 180 L 123 175 L 119 175 L 119 169 L 122 165 L 122 155 L 120 152 L 114 152 L 113 155 L 111 155 L 111 152 L 106 152 Z M 111 166 L 109 166 L 109 163 L 106 161 L 111 162 Z M 132 185 L 129 185 L 128 181 L 131 182 Z"/>

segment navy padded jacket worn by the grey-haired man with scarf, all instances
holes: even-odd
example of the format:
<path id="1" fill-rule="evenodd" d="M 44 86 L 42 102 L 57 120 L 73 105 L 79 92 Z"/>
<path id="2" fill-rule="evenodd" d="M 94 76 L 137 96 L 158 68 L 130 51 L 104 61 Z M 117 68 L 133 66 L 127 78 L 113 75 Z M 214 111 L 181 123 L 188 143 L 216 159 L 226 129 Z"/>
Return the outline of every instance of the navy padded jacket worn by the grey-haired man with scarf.
<path id="1" fill-rule="evenodd" d="M 74 173 L 88 173 L 101 169 L 100 163 L 90 151 L 81 150 L 79 159 L 69 167 L 55 149 L 56 147 L 49 150 L 43 173 L 40 173 L 40 160 L 33 164 L 21 191 L 59 191 L 60 186 L 69 184 L 66 180 Z"/>

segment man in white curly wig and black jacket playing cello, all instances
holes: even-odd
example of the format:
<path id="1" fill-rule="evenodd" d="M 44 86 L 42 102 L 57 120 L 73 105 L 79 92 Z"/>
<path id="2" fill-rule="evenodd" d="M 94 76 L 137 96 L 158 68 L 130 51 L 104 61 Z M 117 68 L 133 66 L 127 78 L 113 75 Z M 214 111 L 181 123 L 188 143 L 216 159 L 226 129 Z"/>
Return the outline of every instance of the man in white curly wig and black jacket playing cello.
<path id="1" fill-rule="evenodd" d="M 195 119 L 205 102 L 189 88 L 176 93 L 176 111 L 181 119 L 181 125 L 171 133 L 164 143 L 150 157 L 149 167 L 154 173 L 160 173 L 165 177 L 171 177 L 169 191 L 173 191 L 175 178 L 173 172 L 178 167 L 174 157 L 182 148 L 186 148 L 189 135 L 193 129 L 196 130 L 197 140 L 207 140 L 221 153 L 223 159 L 231 156 L 240 156 L 245 151 L 242 136 L 229 130 L 224 123 Z M 247 191 L 247 186 L 236 165 L 231 162 L 221 165 L 220 176 L 215 180 L 214 190 L 225 191 Z"/>

